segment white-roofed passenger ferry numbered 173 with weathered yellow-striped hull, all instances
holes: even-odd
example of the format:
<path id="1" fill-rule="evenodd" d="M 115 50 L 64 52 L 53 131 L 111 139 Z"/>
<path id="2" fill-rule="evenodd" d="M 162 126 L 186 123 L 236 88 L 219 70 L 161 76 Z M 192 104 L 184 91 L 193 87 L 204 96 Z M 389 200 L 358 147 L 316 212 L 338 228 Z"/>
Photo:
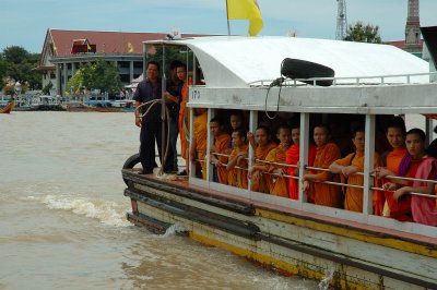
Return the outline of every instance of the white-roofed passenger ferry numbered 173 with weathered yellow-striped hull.
<path id="1" fill-rule="evenodd" d="M 261 120 L 269 120 L 267 113 L 298 118 L 300 181 L 308 170 L 310 124 L 364 121 L 363 190 L 368 194 L 363 212 L 354 213 L 308 203 L 302 185 L 295 201 L 214 182 L 209 129 L 205 160 L 190 160 L 190 168 L 206 162 L 206 180 L 196 170 L 188 180 L 141 174 L 134 166 L 138 155 L 127 160 L 121 173 L 123 194 L 131 201 L 128 220 L 156 233 L 176 225 L 202 244 L 226 249 L 280 274 L 322 280 L 333 289 L 437 289 L 437 228 L 374 215 L 371 192 L 377 189 L 370 170 L 385 117 L 436 111 L 437 83 L 430 82 L 427 62 L 388 45 L 294 37 L 155 40 L 145 41 L 144 51 L 152 46 L 180 47 L 200 67 L 204 85 L 189 87 L 187 106 L 208 108 L 209 119 L 244 110 L 253 132 Z M 298 69 L 283 70 L 286 59 Z M 335 75 L 330 70 L 319 74 L 320 65 Z M 432 128 L 429 119 L 418 118 Z M 250 149 L 249 165 L 252 157 Z"/>

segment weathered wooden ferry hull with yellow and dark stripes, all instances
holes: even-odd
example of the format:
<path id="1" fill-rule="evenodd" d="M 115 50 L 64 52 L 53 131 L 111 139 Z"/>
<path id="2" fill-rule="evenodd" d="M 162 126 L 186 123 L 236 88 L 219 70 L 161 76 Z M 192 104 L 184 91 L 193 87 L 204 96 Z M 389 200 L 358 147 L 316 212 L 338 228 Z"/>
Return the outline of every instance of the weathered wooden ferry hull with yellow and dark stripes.
<path id="1" fill-rule="evenodd" d="M 128 219 L 154 232 L 184 228 L 201 243 L 229 250 L 284 275 L 342 289 L 436 289 L 437 246 L 298 210 L 161 181 L 123 170 Z"/>

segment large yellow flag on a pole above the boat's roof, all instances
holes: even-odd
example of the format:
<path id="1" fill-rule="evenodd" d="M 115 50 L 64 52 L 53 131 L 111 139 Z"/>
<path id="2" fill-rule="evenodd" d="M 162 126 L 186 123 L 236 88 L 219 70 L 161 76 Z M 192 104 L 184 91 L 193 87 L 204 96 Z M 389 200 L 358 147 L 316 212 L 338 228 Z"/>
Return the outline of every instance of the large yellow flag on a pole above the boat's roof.
<path id="1" fill-rule="evenodd" d="M 257 0 L 226 0 L 228 20 L 249 20 L 249 35 L 262 29 L 262 15 Z"/>

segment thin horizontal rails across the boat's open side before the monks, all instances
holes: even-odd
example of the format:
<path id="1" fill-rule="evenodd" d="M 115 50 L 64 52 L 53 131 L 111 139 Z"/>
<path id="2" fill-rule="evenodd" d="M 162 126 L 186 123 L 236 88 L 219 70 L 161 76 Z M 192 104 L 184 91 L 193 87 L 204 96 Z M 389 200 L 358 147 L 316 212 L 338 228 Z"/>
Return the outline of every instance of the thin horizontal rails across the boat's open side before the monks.
<path id="1" fill-rule="evenodd" d="M 220 154 L 220 153 L 213 153 L 213 155 L 216 156 L 222 156 L 222 157 L 229 157 L 229 155 L 227 154 Z M 246 158 L 246 160 L 249 160 L 249 158 Z M 200 160 L 199 160 L 200 161 Z M 205 160 L 203 160 L 205 161 Z M 290 168 L 297 168 L 296 165 L 288 165 L 288 164 L 281 164 L 281 162 L 274 162 L 274 161 L 267 161 L 267 160 L 262 160 L 262 159 L 253 159 L 253 161 L 256 162 L 262 162 L 262 164 L 267 164 L 267 165 L 274 165 L 274 166 L 279 166 L 279 167 L 290 167 Z M 226 165 L 223 165 L 226 166 Z M 246 170 L 248 171 L 248 168 L 243 168 L 243 167 L 238 167 L 235 166 L 236 169 L 241 169 L 241 170 Z M 305 169 L 310 169 L 310 170 L 316 170 L 316 171 L 326 171 L 326 172 L 331 172 L 329 169 L 327 168 L 318 168 L 318 167 L 311 167 L 311 166 L 305 166 Z M 281 174 L 281 173 L 276 173 L 276 172 L 262 172 L 263 174 L 269 174 L 269 176 L 274 176 L 277 178 L 286 178 L 286 179 L 295 179 L 295 180 L 299 180 L 298 177 L 294 177 L 294 176 L 288 176 L 288 174 Z M 364 172 L 356 172 L 354 173 L 356 176 L 364 176 Z M 374 172 L 370 173 L 370 177 L 376 178 L 376 174 Z M 406 180 L 406 181 L 418 181 L 418 182 L 427 182 L 427 183 L 434 183 L 437 184 L 437 180 L 428 180 L 428 179 L 416 179 L 416 178 L 406 178 L 406 177 L 398 177 L 398 176 L 386 176 L 386 179 L 393 179 L 393 180 Z M 317 183 L 323 183 L 323 184 L 330 184 L 330 185 L 336 185 L 336 186 L 345 186 L 345 188 L 352 188 L 352 189 L 364 189 L 364 185 L 356 185 L 356 184 L 347 184 L 347 183 L 342 183 L 342 182 L 334 182 L 334 181 L 314 181 Z M 385 190 L 382 188 L 376 188 L 376 186 L 370 186 L 370 190 L 373 191 L 383 191 L 383 192 L 394 192 L 394 191 L 389 191 L 389 190 Z M 410 192 L 411 195 L 416 195 L 416 196 L 423 196 L 423 197 L 429 197 L 429 198 L 437 198 L 437 195 L 435 194 L 424 194 L 424 193 L 416 193 L 416 192 Z"/>

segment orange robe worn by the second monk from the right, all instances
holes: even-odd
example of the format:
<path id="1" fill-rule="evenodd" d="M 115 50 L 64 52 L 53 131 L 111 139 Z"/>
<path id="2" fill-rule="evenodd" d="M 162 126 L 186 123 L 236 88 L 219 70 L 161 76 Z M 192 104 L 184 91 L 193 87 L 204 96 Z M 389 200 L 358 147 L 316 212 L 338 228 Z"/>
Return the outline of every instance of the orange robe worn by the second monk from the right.
<path id="1" fill-rule="evenodd" d="M 387 155 L 387 169 L 393 172 L 393 174 L 398 174 L 399 165 L 408 153 L 409 152 L 406 148 L 397 148 L 390 152 Z M 379 181 L 379 183 L 380 184 L 378 184 L 378 186 L 380 186 L 382 182 Z M 390 193 L 383 191 L 374 191 L 374 215 L 382 216 L 383 205 L 386 203 L 386 194 L 390 195 Z"/>

